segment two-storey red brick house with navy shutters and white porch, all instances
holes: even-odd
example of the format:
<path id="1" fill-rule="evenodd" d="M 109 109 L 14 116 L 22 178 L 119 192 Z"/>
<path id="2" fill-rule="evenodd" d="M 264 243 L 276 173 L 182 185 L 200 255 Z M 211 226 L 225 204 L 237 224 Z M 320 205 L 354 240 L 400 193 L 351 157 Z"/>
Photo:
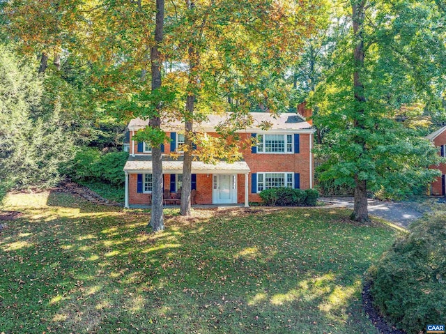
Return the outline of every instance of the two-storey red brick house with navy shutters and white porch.
<path id="1" fill-rule="evenodd" d="M 217 164 L 192 162 L 192 190 L 196 190 L 192 204 L 245 204 L 261 202 L 261 190 L 277 187 L 308 189 L 313 187 L 312 144 L 314 129 L 298 114 L 284 113 L 273 118 L 269 113 L 252 113 L 254 125 L 239 130 L 241 142 L 256 137 L 258 144 L 243 147 L 243 160 Z M 215 126 L 224 116 L 208 116 L 196 126 L 197 132 L 216 136 Z M 268 121 L 272 126 L 264 131 L 259 127 Z M 124 167 L 125 207 L 151 204 L 152 161 L 151 148 L 135 142 L 132 137 L 145 128 L 148 121 L 133 119 L 130 131 L 130 156 Z M 163 153 L 164 192 L 174 197 L 182 185 L 183 158 L 172 158 L 184 143 L 184 125 L 170 122 L 162 126 L 170 142 L 161 146 Z"/>

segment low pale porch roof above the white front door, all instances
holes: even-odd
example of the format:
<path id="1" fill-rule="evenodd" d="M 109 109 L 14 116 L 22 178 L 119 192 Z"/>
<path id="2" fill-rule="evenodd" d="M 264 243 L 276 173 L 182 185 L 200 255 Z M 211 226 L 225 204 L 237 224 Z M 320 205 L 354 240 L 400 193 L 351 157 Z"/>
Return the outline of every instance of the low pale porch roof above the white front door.
<path id="1" fill-rule="evenodd" d="M 137 155 L 130 156 L 125 163 L 125 172 L 152 172 L 152 156 L 151 155 Z M 194 174 L 215 174 L 215 173 L 234 173 L 243 174 L 249 173 L 247 163 L 245 161 L 236 161 L 228 163 L 224 161 L 214 164 L 207 164 L 201 161 L 192 161 L 192 173 Z M 183 173 L 183 157 L 174 160 L 169 155 L 162 156 L 162 172 L 164 174 L 182 174 Z"/>

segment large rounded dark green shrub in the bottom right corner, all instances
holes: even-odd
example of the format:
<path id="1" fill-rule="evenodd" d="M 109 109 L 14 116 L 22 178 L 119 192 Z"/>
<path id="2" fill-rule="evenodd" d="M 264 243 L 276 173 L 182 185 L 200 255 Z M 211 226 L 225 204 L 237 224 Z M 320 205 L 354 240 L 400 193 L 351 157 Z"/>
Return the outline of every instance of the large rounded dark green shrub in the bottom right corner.
<path id="1" fill-rule="evenodd" d="M 445 220 L 436 215 L 413 225 L 370 270 L 375 307 L 407 333 L 445 320 Z"/>

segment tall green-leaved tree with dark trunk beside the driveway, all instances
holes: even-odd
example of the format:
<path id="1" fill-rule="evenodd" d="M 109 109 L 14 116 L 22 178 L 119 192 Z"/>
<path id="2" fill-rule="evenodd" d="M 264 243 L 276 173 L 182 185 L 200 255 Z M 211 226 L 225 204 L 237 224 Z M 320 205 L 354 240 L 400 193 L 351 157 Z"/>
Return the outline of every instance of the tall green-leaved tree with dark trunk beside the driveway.
<path id="1" fill-rule="evenodd" d="M 436 149 L 397 119 L 440 97 L 446 65 L 440 1 L 351 0 L 351 30 L 316 89 L 316 124 L 328 126 L 322 179 L 355 188 L 351 218 L 369 220 L 367 192 L 405 195 L 432 181 Z M 421 109 L 422 110 L 422 109 Z"/>

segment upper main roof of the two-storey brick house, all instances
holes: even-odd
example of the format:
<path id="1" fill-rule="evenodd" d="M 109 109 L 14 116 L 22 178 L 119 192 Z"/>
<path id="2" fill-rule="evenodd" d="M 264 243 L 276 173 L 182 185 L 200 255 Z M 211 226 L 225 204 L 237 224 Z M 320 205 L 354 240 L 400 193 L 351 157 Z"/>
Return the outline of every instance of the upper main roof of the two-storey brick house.
<path id="1" fill-rule="evenodd" d="M 250 116 L 254 120 L 252 126 L 244 130 L 260 130 L 262 123 L 271 123 L 270 130 L 311 130 L 312 126 L 304 121 L 298 114 L 295 113 L 283 113 L 279 116 L 272 116 L 269 112 L 250 112 Z M 209 115 L 206 121 L 203 121 L 197 126 L 195 130 L 213 130 L 215 126 L 229 119 L 229 114 L 220 115 Z M 130 130 L 139 130 L 148 125 L 148 120 L 143 119 L 132 119 L 130 121 L 128 128 Z M 162 121 L 162 129 L 169 130 L 183 130 L 184 123 L 180 121 L 165 120 Z"/>

